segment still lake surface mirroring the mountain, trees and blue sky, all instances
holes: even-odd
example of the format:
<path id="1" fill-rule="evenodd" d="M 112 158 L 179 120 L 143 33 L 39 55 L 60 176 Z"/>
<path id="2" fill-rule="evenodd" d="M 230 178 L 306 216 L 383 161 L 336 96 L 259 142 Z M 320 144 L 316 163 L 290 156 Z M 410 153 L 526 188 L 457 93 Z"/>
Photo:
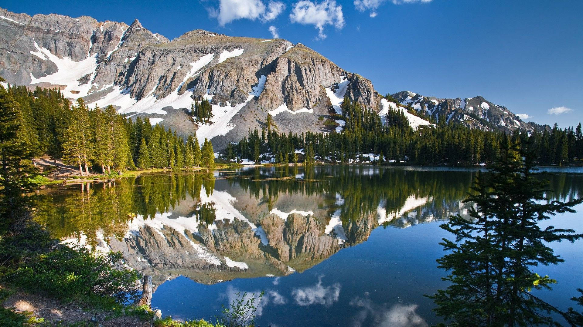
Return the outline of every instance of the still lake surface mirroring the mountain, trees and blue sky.
<path id="1" fill-rule="evenodd" d="M 449 237 L 431 222 L 466 214 L 475 173 L 322 166 L 152 174 L 49 190 L 38 219 L 54 237 L 120 251 L 152 275 L 152 305 L 164 315 L 212 319 L 237 292 L 264 290 L 261 326 L 427 326 L 436 318 L 423 294 L 445 287 L 435 260 Z M 583 175 L 545 178 L 553 196 L 583 189 Z M 553 225 L 581 232 L 574 216 Z M 561 268 L 568 265 L 579 275 L 560 280 L 572 289 L 557 296 L 565 306 L 583 280 L 581 263 Z"/>

